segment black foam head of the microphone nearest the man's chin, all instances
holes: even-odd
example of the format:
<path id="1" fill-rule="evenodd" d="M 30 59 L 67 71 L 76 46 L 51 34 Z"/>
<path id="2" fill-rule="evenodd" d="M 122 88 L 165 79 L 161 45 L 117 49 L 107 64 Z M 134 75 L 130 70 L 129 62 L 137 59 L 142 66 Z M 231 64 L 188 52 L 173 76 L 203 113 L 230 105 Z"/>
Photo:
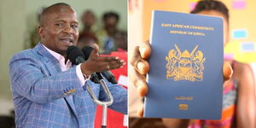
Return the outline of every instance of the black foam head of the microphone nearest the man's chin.
<path id="1" fill-rule="evenodd" d="M 67 58 L 73 63 L 76 64 L 76 58 L 82 56 L 84 58 L 83 52 L 76 46 L 69 46 L 67 48 Z"/>

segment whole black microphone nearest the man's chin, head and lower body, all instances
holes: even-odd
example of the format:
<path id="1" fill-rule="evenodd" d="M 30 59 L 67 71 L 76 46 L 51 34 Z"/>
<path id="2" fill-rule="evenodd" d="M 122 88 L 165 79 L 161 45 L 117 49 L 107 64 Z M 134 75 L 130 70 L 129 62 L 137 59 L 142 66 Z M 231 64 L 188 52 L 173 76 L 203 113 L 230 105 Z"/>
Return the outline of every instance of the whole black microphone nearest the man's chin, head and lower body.
<path id="1" fill-rule="evenodd" d="M 84 62 L 84 54 L 83 52 L 76 46 L 69 46 L 67 48 L 67 58 L 74 64 L 79 65 Z M 98 79 L 96 73 L 92 73 L 90 75 L 90 80 L 96 84 L 100 84 L 100 80 Z"/>

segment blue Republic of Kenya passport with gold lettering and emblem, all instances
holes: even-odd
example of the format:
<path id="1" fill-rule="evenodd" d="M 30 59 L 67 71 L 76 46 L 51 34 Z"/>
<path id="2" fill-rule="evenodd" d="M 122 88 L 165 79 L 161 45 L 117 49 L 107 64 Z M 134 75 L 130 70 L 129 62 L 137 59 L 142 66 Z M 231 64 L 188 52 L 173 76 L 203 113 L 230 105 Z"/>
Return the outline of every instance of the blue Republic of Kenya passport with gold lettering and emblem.
<path id="1" fill-rule="evenodd" d="M 144 117 L 220 119 L 223 20 L 154 10 Z"/>

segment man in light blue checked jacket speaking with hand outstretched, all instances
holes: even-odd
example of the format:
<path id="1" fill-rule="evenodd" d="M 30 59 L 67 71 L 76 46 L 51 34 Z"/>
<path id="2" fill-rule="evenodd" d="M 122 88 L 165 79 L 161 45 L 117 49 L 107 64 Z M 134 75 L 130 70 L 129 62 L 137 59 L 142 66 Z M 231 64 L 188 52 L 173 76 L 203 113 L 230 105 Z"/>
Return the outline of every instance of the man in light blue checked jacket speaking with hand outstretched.
<path id="1" fill-rule="evenodd" d="M 95 47 L 87 61 L 73 66 L 67 59 L 67 48 L 78 43 L 78 26 L 70 5 L 55 3 L 40 15 L 37 46 L 11 59 L 9 73 L 17 128 L 94 127 L 96 103 L 84 87 L 89 84 L 97 98 L 108 100 L 102 87 L 90 81 L 90 74 L 122 67 L 124 61 L 99 56 Z M 107 84 L 113 95 L 109 108 L 127 113 L 127 90 Z"/>

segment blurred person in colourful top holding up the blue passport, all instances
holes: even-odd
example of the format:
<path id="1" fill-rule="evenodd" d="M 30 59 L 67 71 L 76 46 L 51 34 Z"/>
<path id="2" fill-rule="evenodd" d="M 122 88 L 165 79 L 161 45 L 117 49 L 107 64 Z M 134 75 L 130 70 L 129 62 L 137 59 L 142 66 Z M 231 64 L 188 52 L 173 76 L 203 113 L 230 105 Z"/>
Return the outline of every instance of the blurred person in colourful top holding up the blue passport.
<path id="1" fill-rule="evenodd" d="M 202 0 L 197 3 L 192 14 L 212 15 L 222 17 L 224 20 L 224 45 L 229 42 L 229 10 L 224 3 L 216 0 Z M 137 46 L 131 58 L 134 70 L 130 73 L 130 79 L 137 86 L 140 96 L 146 96 L 148 85 L 145 74 L 148 73 L 150 56 L 150 44 L 144 43 Z M 200 119 L 163 119 L 166 127 L 170 128 L 255 128 L 255 94 L 253 71 L 248 64 L 235 60 L 224 59 L 224 91 L 223 111 L 219 120 Z M 137 65 L 139 63 L 139 65 Z M 232 67 L 233 75 L 227 72 L 228 66 Z M 227 75 L 228 74 L 228 75 Z M 143 115 L 143 109 L 139 112 Z"/>

